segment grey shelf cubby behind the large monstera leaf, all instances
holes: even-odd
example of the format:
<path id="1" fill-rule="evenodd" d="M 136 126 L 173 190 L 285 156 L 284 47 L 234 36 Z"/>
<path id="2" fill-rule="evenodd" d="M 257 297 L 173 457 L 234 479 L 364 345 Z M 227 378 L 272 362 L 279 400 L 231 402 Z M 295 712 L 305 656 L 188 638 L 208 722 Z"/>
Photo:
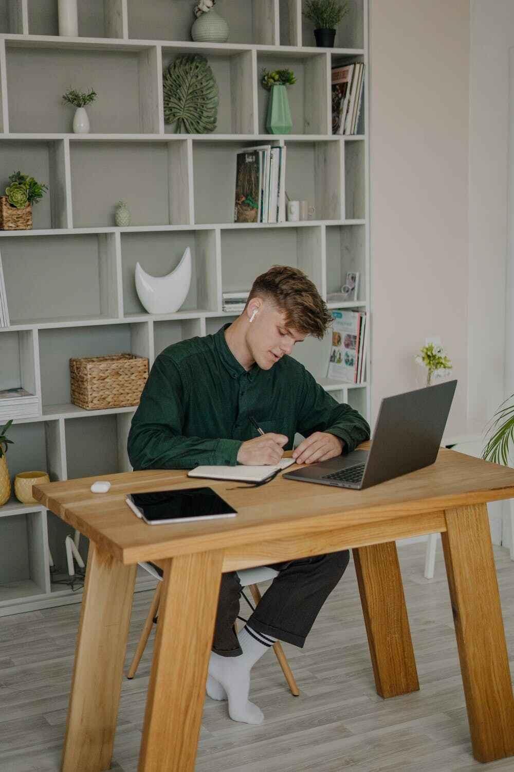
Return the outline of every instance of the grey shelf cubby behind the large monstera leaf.
<path id="1" fill-rule="evenodd" d="M 191 6 L 192 7 L 192 6 Z M 163 71 L 184 53 L 205 56 L 219 90 L 217 127 L 213 134 L 255 134 L 254 67 L 252 52 L 230 48 L 163 46 Z M 173 134 L 174 124 L 165 124 L 166 134 Z"/>

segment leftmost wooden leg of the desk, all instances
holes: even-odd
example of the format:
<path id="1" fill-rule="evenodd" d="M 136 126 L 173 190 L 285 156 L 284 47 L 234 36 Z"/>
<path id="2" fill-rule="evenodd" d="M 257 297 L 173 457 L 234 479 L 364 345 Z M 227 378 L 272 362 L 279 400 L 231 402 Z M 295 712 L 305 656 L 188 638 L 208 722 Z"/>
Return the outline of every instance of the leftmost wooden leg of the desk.
<path id="1" fill-rule="evenodd" d="M 62 772 L 110 767 L 136 568 L 89 543 Z"/>

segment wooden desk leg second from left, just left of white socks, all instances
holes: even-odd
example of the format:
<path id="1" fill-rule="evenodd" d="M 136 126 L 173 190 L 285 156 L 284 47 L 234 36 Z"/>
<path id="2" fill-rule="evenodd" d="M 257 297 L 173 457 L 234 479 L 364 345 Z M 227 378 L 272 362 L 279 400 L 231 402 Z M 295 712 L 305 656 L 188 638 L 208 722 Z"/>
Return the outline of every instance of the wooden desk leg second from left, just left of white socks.
<path id="1" fill-rule="evenodd" d="M 162 560 L 163 591 L 139 772 L 193 772 L 223 552 Z"/>

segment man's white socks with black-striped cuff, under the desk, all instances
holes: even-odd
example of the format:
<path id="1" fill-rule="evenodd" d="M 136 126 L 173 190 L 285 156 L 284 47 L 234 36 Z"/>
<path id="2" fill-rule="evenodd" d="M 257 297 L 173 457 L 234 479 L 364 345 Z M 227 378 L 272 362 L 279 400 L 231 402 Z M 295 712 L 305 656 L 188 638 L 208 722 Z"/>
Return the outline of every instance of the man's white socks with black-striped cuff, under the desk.
<path id="1" fill-rule="evenodd" d="M 219 654 L 211 652 L 209 675 L 227 693 L 228 712 L 233 721 L 259 724 L 263 722 L 264 715 L 257 705 L 250 703 L 248 699 L 250 670 L 277 638 L 263 635 L 246 626 L 238 633 L 237 639 L 243 654 L 239 657 L 220 657 Z M 220 693 L 220 690 L 217 689 L 217 693 Z"/>

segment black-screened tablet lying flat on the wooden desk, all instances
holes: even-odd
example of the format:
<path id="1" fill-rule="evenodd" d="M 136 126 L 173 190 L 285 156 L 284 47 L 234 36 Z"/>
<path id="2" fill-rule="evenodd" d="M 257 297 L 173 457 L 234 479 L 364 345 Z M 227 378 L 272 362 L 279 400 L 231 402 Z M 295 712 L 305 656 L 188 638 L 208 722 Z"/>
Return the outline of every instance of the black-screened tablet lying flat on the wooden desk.
<path id="1" fill-rule="evenodd" d="M 133 513 L 151 526 L 214 520 L 237 514 L 230 504 L 207 487 L 129 493 L 125 500 Z"/>

